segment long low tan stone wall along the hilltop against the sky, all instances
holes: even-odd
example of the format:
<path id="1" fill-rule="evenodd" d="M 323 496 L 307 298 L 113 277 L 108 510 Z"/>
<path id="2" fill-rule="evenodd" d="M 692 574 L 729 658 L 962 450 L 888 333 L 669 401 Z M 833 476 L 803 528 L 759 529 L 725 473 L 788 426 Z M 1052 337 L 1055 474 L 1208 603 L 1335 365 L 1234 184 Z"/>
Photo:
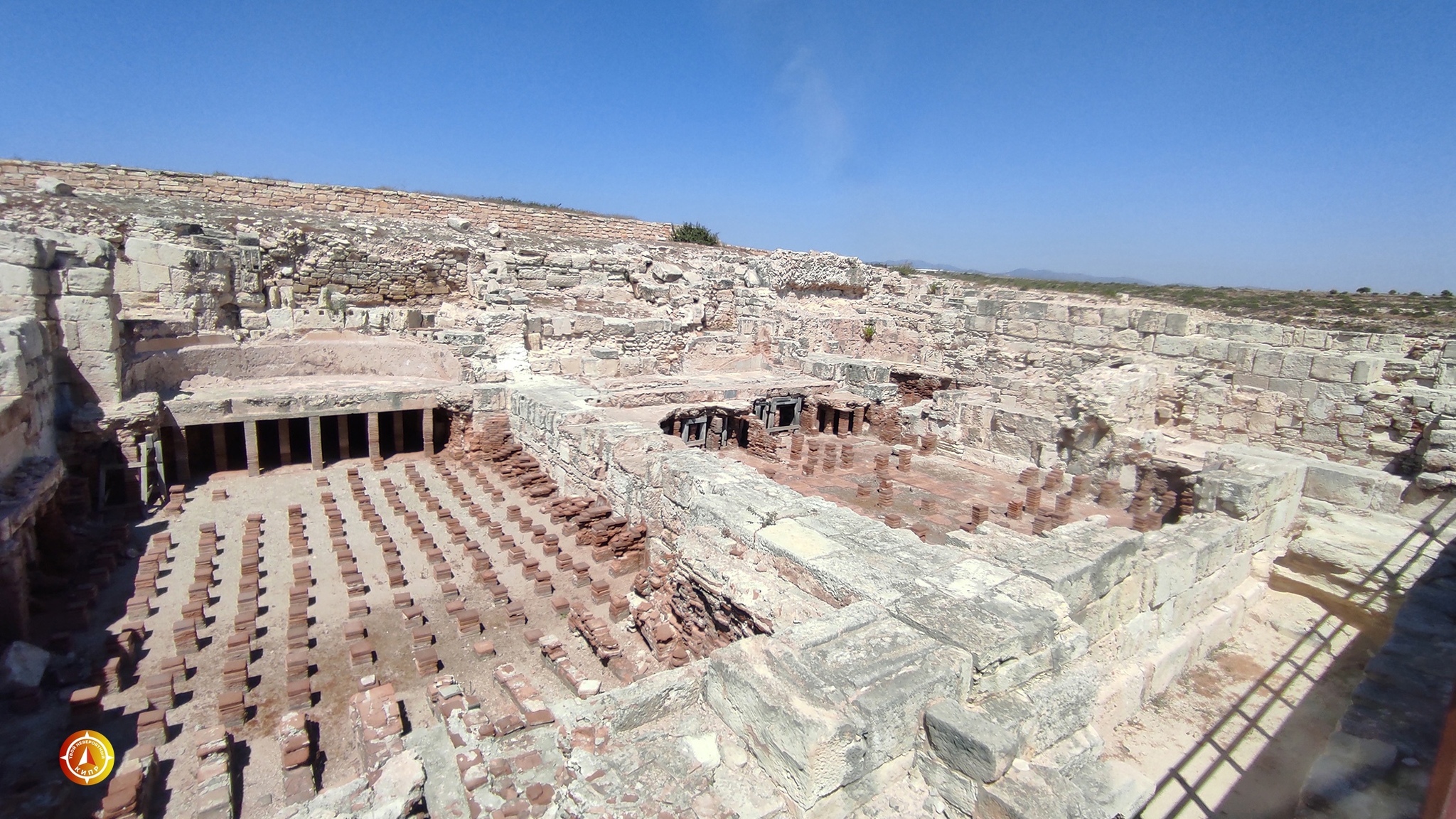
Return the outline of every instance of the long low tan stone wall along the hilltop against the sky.
<path id="1" fill-rule="evenodd" d="M 202 175 L 105 165 L 0 160 L 0 187 L 33 191 L 35 184 L 44 176 L 60 178 L 83 191 L 156 194 L 236 205 L 434 219 L 438 222 L 454 216 L 482 226 L 494 222 L 501 227 L 515 230 L 593 239 L 662 242 L 671 233 L 671 226 L 661 222 L 438 194 L 313 185 L 282 179 L 249 179 L 223 173 Z"/>

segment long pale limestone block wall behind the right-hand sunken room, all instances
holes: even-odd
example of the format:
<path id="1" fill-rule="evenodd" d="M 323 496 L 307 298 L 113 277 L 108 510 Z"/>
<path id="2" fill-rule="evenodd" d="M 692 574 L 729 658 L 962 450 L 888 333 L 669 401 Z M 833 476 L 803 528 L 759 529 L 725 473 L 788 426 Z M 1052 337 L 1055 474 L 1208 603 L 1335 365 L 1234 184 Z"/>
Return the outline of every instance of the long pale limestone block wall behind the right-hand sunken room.
<path id="1" fill-rule="evenodd" d="M 955 291 L 960 286 L 948 286 Z M 875 299 L 872 299 L 875 300 Z M 1452 385 L 1450 342 L 1395 334 L 1340 334 L 1176 310 L 1028 299 L 929 294 L 898 299 L 874 319 L 786 315 L 763 319 L 779 335 L 827 340 L 827 353 L 910 361 L 992 386 L 1072 428 L 1166 426 L 1188 436 L 1322 453 L 1409 469 Z M 823 357 L 789 344 L 788 351 Z M 846 385 L 850 379 L 844 379 Z M 958 440 L 946 430 L 942 440 Z M 1042 446 L 1054 442 L 1037 442 Z"/>

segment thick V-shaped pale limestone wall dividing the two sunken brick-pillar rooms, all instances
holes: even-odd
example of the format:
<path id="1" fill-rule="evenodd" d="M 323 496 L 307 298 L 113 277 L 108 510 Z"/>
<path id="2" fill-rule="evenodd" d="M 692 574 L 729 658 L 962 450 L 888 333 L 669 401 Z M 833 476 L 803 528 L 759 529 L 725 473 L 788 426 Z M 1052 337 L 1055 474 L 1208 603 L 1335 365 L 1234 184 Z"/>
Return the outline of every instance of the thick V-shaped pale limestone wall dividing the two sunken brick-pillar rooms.
<path id="1" fill-rule="evenodd" d="M 1099 759 L 1101 733 L 1136 716 L 1242 625 L 1303 497 L 1366 498 L 1370 509 L 1399 503 L 1401 481 L 1380 472 L 1230 447 L 1201 475 L 1198 512 L 1160 530 L 1091 519 L 1031 538 L 987 525 L 933 546 L 683 449 L 657 430 L 601 423 L 593 399 L 584 388 L 510 392 L 518 440 L 569 491 L 603 493 L 614 507 L 661 522 L 668 549 L 695 528 L 745 544 L 747 560 L 766 560 L 773 574 L 842 606 L 821 625 L 827 640 L 868 637 L 881 628 L 871 624 L 884 622 L 910 628 L 897 640 L 911 653 L 958 657 L 954 691 L 927 681 L 894 700 L 894 708 L 922 710 L 923 723 L 875 729 L 853 707 L 805 701 L 804 721 L 789 720 L 785 730 L 810 739 L 794 745 L 759 727 L 770 721 L 759 716 L 786 695 L 769 688 L 802 667 L 761 670 L 795 656 L 779 643 L 795 641 L 775 634 L 715 653 L 705 698 L 802 806 L 913 746 L 926 780 L 967 813 L 1025 810 L 1019 800 L 1028 793 L 1063 800 L 1047 804 L 1085 804 L 1076 800 L 1096 790 L 1086 777 L 1104 777 L 1133 783 L 1120 791 L 1128 802 L 1108 815 L 1133 815 L 1150 783 Z M 850 611 L 868 614 L 830 627 Z M 862 628 L 869 631 L 856 634 Z M 917 647 L 926 637 L 939 648 Z M 859 765 L 837 753 L 875 730 L 888 732 L 887 755 Z M 1029 759 L 1029 774 L 1010 768 L 1013 758 Z"/>

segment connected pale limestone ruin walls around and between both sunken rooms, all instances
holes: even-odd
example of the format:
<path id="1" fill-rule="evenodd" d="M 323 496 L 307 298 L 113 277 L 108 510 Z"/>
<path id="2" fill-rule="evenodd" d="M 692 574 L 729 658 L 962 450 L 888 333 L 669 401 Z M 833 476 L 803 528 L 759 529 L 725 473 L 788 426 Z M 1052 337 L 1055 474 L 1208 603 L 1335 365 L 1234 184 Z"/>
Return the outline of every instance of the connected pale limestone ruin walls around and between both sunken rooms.
<path id="1" fill-rule="evenodd" d="M 33 175 L 7 168 L 19 176 L 6 184 Z M 716 648 L 708 663 L 652 685 L 676 686 L 678 708 L 706 704 L 801 809 L 907 764 L 974 815 L 1024 812 L 1028 793 L 1134 804 L 1150 783 L 1101 759 L 1098 737 L 1239 628 L 1302 501 L 1392 512 L 1405 484 L 1379 469 L 1417 474 L 1430 491 L 1456 484 L 1456 342 L 976 297 L 955 283 L 932 293 L 927 280 L 827 254 L 476 248 L 443 233 L 411 239 L 395 267 L 338 230 L 269 248 L 266 232 L 178 236 L 132 222 L 116 243 L 92 227 L 0 242 L 6 312 L 20 313 L 0 325 L 0 455 L 31 510 L 3 533 L 20 544 L 12 563 L 33 552 L 33 517 L 60 481 L 39 468 L 55 463 L 58 402 L 112 407 L 79 418 L 121 439 L 131 421 L 115 405 L 217 367 L 272 373 L 268 345 L 301 329 L 435 342 L 437 375 L 476 382 L 441 392 L 454 453 L 486 446 L 504 414 L 563 493 L 645 522 L 644 571 L 667 579 L 654 616 L 683 612 L 678 592 L 693 592 L 728 618 L 713 634 L 729 646 L 696 644 L 693 656 Z M 1197 514 L 1156 532 L 1092 519 L 1038 538 L 980 526 L 952 533 L 958 548 L 932 546 L 612 420 L 609 391 L 550 377 L 680 375 L 695 344 L 796 367 L 872 401 L 877 431 L 935 436 L 951 455 L 1112 475 L 1130 453 L 1162 452 L 1168 442 L 1149 434 L 1168 433 L 1303 456 L 1220 450 L 1195 479 Z M 51 372 L 63 360 L 74 376 Z M 323 356 L 319 372 L 341 367 Z M 906 391 L 930 382 L 954 389 Z M 859 691 L 849 700 L 815 694 L 846 681 Z"/>

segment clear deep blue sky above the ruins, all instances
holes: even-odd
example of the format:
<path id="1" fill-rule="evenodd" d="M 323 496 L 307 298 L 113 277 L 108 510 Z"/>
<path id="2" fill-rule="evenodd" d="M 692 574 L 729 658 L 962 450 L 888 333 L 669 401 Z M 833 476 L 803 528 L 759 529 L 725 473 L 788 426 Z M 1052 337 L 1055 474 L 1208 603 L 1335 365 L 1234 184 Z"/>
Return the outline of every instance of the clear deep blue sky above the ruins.
<path id="1" fill-rule="evenodd" d="M 1456 289 L 1456 3 L 17 3 L 0 154 Z"/>

